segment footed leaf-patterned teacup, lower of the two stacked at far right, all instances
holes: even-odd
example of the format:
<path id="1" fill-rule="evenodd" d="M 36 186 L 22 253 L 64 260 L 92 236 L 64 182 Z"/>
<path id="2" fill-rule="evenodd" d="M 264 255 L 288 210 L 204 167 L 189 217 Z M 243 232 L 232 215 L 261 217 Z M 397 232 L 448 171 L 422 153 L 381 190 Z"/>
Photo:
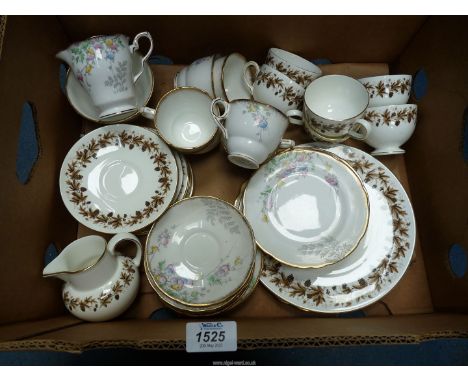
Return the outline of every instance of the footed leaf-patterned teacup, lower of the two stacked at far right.
<path id="1" fill-rule="evenodd" d="M 412 104 L 368 108 L 364 118 L 372 124 L 372 131 L 365 142 L 375 148 L 371 154 L 403 154 L 400 146 L 413 134 L 417 113 L 417 105 Z"/>

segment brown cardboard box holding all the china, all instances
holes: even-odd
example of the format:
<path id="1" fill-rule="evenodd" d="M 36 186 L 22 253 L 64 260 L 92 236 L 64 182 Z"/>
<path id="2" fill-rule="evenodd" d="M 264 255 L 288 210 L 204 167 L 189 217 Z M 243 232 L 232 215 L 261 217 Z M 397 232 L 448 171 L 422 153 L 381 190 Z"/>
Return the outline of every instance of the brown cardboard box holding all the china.
<path id="1" fill-rule="evenodd" d="M 350 63 L 323 65 L 325 73 L 359 78 L 424 70 L 428 79 L 427 94 L 416 101 L 419 120 L 405 145 L 407 153 L 382 158 L 411 195 L 416 214 L 418 241 L 404 278 L 382 301 L 365 308 L 360 318 L 306 314 L 279 302 L 259 284 L 247 302 L 219 317 L 237 321 L 239 349 L 467 337 L 468 276 L 455 277 L 448 260 L 453 244 L 468 249 L 468 176 L 462 141 L 468 96 L 466 21 L 464 17 L 419 16 L 8 17 L 3 45 L 0 39 L 4 187 L 0 199 L 0 350 L 185 348 L 185 324 L 193 319 L 149 319 L 162 304 L 142 269 L 135 303 L 119 319 L 104 323 L 86 323 L 68 314 L 61 300 L 61 282 L 41 277 L 49 244 L 64 248 L 77 236 L 91 233 L 63 205 L 58 173 L 80 133 L 96 125 L 83 121 L 68 104 L 60 89 L 60 62 L 55 53 L 92 35 L 122 32 L 133 36 L 143 30 L 152 34 L 155 54 L 178 64 L 233 51 L 262 62 L 268 48 L 278 46 L 308 58 Z M 172 88 L 178 68 L 152 66 L 155 89 L 149 106 Z M 40 154 L 29 182 L 21 184 L 15 161 L 26 101 L 36 109 Z M 130 123 L 151 126 L 151 121 L 142 118 Z M 310 140 L 294 127 L 287 136 L 297 142 Z M 466 145 L 465 135 L 465 151 Z M 364 144 L 359 147 L 369 151 Z M 189 160 L 196 195 L 233 202 L 249 175 L 231 165 L 221 147 Z"/>

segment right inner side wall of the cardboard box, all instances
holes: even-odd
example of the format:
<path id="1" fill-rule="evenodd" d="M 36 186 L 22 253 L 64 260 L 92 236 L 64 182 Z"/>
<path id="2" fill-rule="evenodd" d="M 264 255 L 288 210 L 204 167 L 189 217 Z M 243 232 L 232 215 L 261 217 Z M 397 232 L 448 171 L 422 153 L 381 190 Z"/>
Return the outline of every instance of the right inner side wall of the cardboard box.
<path id="1" fill-rule="evenodd" d="M 424 70 L 427 79 L 417 84 L 427 90 L 417 101 L 419 118 L 405 157 L 433 303 L 452 312 L 468 312 L 467 270 L 456 277 L 448 257 L 453 244 L 468 254 L 466 23 L 466 17 L 431 17 L 397 65 L 400 72 Z"/>

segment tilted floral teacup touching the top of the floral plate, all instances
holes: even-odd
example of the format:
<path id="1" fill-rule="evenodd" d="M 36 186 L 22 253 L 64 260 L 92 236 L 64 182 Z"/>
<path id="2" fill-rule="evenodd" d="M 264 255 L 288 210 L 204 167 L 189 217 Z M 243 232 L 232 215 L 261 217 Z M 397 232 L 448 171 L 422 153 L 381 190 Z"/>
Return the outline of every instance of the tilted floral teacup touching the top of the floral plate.
<path id="1" fill-rule="evenodd" d="M 219 106 L 224 110 L 221 115 Z M 278 147 L 295 145 L 282 139 L 288 117 L 271 105 L 242 99 L 228 103 L 216 98 L 211 114 L 223 133 L 229 161 L 240 167 L 257 169 Z"/>

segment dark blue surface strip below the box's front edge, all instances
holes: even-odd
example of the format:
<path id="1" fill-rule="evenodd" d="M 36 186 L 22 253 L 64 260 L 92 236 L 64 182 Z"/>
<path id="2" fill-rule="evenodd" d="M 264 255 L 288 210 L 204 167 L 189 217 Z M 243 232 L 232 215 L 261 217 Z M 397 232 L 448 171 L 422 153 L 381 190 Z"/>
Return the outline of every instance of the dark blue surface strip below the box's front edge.
<path id="1" fill-rule="evenodd" d="M 0 353 L 0 365 L 468 365 L 467 339 L 438 339 L 412 345 L 328 346 L 314 348 L 186 353 L 125 348 L 57 352 Z"/>

